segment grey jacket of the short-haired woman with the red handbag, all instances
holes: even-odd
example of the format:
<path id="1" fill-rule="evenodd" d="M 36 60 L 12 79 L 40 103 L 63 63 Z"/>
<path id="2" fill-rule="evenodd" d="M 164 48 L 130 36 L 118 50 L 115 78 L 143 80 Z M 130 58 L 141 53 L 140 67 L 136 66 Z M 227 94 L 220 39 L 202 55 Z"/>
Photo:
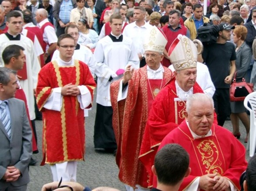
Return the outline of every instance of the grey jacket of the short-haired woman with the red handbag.
<path id="1" fill-rule="evenodd" d="M 251 59 L 251 49 L 244 42 L 236 51 L 236 79 L 245 78 L 246 82 L 250 81 L 247 77 L 247 70 L 249 69 Z"/>

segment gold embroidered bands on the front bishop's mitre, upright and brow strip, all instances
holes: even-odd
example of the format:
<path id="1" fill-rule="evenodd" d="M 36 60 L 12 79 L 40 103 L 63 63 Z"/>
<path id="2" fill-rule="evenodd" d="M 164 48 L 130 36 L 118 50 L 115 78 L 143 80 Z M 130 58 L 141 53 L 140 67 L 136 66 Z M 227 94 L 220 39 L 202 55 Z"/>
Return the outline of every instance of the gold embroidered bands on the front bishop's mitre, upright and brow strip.
<path id="1" fill-rule="evenodd" d="M 172 61 L 172 63 L 175 65 L 174 68 L 176 70 L 195 68 L 197 64 L 197 61 L 196 61 L 197 58 L 193 57 L 190 40 L 187 38 L 182 38 L 180 42 L 184 44 L 184 46 L 182 46 L 182 49 L 183 49 L 183 53 L 185 53 L 184 54 L 185 58 L 178 61 L 175 61 L 175 60 Z"/>

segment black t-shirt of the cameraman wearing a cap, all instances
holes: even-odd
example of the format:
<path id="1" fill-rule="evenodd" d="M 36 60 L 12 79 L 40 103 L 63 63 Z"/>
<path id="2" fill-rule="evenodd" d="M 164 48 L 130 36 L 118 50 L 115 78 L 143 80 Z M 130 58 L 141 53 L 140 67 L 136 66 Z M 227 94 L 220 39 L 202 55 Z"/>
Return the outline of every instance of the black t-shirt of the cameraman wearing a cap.
<path id="1" fill-rule="evenodd" d="M 232 43 L 205 45 L 202 58 L 209 69 L 215 88 L 229 88 L 224 82 L 229 76 L 230 61 L 236 60 L 236 49 Z"/>

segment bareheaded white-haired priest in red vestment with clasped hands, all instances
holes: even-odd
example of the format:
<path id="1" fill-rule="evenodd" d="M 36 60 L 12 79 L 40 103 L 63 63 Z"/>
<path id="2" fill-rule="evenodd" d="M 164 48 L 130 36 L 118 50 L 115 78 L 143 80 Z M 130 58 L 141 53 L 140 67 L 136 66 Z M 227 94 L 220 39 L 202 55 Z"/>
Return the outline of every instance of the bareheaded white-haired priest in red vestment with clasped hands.
<path id="1" fill-rule="evenodd" d="M 191 95 L 184 115 L 185 120 L 159 146 L 177 143 L 189 153 L 191 174 L 179 190 L 240 190 L 239 178 L 247 167 L 246 150 L 229 130 L 213 124 L 212 98 L 202 93 Z"/>

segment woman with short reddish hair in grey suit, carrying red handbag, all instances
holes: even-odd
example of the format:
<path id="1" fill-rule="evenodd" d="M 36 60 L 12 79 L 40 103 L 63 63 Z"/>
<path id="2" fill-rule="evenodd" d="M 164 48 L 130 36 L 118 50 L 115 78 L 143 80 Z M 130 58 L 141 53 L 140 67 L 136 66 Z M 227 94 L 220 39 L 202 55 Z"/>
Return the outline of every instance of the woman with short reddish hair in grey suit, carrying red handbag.
<path id="1" fill-rule="evenodd" d="M 252 58 L 251 50 L 249 46 L 246 44 L 246 36 L 247 29 L 245 26 L 238 25 L 233 30 L 233 41 L 236 44 L 236 81 L 241 81 L 243 78 L 249 82 L 247 79 L 247 70 L 249 68 L 249 64 Z M 239 119 L 242 121 L 243 125 L 246 128 L 246 138 L 244 142 L 247 142 L 249 130 L 250 130 L 250 122 L 249 118 L 246 114 L 246 108 L 243 105 L 243 101 L 241 102 L 230 102 L 231 106 L 231 115 L 230 119 L 233 126 L 233 135 L 236 138 L 240 138 L 239 132 Z"/>

